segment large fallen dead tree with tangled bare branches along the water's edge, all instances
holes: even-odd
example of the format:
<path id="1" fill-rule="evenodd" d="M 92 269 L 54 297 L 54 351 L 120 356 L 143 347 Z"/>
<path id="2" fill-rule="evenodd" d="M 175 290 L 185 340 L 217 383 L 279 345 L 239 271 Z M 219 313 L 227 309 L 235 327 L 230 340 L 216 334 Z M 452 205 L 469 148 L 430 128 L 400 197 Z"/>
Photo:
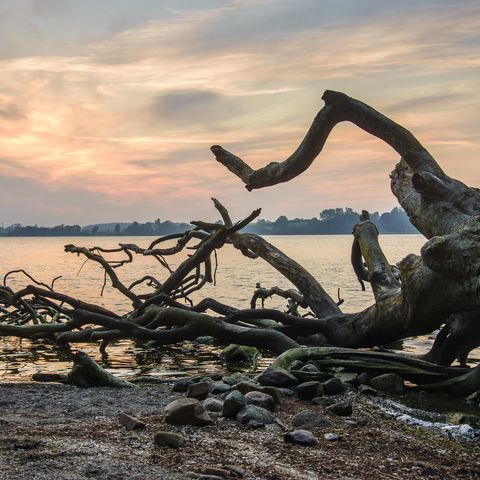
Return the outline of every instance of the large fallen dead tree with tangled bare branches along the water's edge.
<path id="1" fill-rule="evenodd" d="M 254 170 L 218 145 L 211 150 L 250 191 L 305 172 L 340 122 L 352 122 L 389 144 L 401 157 L 391 174 L 392 192 L 427 242 L 420 255 L 408 255 L 393 267 L 381 249 L 368 212 L 362 212 L 353 231 L 351 260 L 362 288 L 365 282 L 372 288 L 375 303 L 371 307 L 354 314 L 343 313 L 342 301 L 331 298 L 304 267 L 264 238 L 241 233 L 260 210 L 234 223 L 227 209 L 213 199 L 222 224 L 192 222 L 193 229 L 161 237 L 147 248 L 133 244 L 112 249 L 65 246 L 66 252 L 81 255 L 104 269 L 105 283 L 110 279 L 112 286 L 131 301 L 132 310 L 127 315 L 72 298 L 56 291 L 53 282 L 42 284 L 28 274 L 33 283 L 13 291 L 8 287 L 9 272 L 0 288 L 0 335 L 63 344 L 101 340 L 102 350 L 119 338 L 165 345 L 211 335 L 224 343 L 257 346 L 281 354 L 305 344 L 373 347 L 441 329 L 426 360 L 448 366 L 458 358 L 465 365 L 468 353 L 480 345 L 480 191 L 446 175 L 408 130 L 372 107 L 332 91 L 326 91 L 323 100 L 325 106 L 305 138 L 283 162 Z M 166 242 L 174 245 L 166 247 Z M 250 259 L 266 261 L 295 288 L 258 286 L 251 308 L 243 310 L 211 298 L 194 304 L 192 293 L 214 282 L 216 250 L 226 243 Z M 167 258 L 187 248 L 193 253 L 172 269 Z M 122 257 L 108 260 L 105 254 Z M 168 272 L 167 278 L 160 281 L 145 276 L 124 285 L 116 270 L 131 263 L 135 255 L 155 259 Z M 140 284 L 148 285 L 151 291 L 135 293 Z M 288 300 L 287 312 L 263 308 L 263 301 L 272 295 Z M 259 299 L 262 308 L 257 308 Z M 301 315 L 301 308 L 308 313 Z M 457 373 L 465 371 L 459 369 Z"/>

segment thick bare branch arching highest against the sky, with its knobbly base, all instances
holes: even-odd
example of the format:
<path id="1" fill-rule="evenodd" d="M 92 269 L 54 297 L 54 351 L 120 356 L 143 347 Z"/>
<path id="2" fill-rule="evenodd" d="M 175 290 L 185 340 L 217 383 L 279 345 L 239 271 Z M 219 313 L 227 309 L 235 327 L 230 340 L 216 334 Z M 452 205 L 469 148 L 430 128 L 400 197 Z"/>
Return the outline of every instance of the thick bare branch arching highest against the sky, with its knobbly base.
<path id="1" fill-rule="evenodd" d="M 344 93 L 327 90 L 322 98 L 325 106 L 301 144 L 283 162 L 254 170 L 219 145 L 213 145 L 211 150 L 217 161 L 250 191 L 288 182 L 303 173 L 322 151 L 335 125 L 349 121 L 400 154 L 401 161 L 391 175 L 391 188 L 412 223 L 427 238 L 465 228 L 469 218 L 480 211 L 480 191 L 448 177 L 407 129 Z"/>

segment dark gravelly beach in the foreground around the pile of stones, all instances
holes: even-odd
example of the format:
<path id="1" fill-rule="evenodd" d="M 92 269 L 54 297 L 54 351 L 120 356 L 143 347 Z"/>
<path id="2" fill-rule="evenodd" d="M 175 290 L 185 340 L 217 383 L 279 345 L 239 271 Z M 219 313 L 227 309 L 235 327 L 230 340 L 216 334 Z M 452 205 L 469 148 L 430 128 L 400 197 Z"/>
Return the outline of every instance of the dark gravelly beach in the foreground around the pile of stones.
<path id="1" fill-rule="evenodd" d="M 451 440 L 387 418 L 361 395 L 349 392 L 351 417 L 322 405 L 285 398 L 278 422 L 249 429 L 223 417 L 206 427 L 163 423 L 163 407 L 182 394 L 171 384 L 136 388 L 87 388 L 62 384 L 0 383 L 0 478 L 5 479 L 183 479 L 208 467 L 237 467 L 229 478 L 367 479 L 480 478 L 478 441 Z M 324 415 L 330 426 L 311 429 L 313 447 L 287 444 L 285 431 L 302 410 Z M 146 423 L 128 431 L 125 412 Z M 179 450 L 156 447 L 156 432 L 182 433 Z M 336 434 L 331 442 L 324 434 Z"/>

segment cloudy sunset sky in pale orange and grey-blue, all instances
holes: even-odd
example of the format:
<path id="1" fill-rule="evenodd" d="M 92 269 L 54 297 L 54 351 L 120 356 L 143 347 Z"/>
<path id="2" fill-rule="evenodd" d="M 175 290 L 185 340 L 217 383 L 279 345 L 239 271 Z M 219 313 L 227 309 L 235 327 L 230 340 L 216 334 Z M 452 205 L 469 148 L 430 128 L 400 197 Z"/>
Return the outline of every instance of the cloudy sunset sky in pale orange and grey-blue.
<path id="1" fill-rule="evenodd" d="M 209 151 L 285 159 L 326 89 L 480 186 L 479 47 L 478 0 L 0 0 L 0 224 L 390 210 L 398 155 L 349 124 L 250 193 Z"/>

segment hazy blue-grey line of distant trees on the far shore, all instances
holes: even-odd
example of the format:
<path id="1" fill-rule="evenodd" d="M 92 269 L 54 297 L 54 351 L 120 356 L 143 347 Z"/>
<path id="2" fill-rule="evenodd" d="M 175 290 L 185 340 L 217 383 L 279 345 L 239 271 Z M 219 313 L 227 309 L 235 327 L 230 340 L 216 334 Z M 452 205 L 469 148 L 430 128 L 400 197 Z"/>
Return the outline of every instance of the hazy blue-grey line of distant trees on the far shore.
<path id="1" fill-rule="evenodd" d="M 349 234 L 358 223 L 358 212 L 351 208 L 329 208 L 320 212 L 319 217 L 289 220 L 284 215 L 274 222 L 258 220 L 244 229 L 259 235 L 332 235 Z M 392 211 L 370 218 L 381 233 L 418 233 L 405 212 L 395 207 Z M 161 236 L 181 233 L 192 228 L 189 223 L 160 221 L 146 223 L 99 223 L 95 225 L 57 225 L 55 227 L 23 226 L 20 224 L 0 227 L 0 236 L 9 237 L 68 237 L 68 236 Z"/>

